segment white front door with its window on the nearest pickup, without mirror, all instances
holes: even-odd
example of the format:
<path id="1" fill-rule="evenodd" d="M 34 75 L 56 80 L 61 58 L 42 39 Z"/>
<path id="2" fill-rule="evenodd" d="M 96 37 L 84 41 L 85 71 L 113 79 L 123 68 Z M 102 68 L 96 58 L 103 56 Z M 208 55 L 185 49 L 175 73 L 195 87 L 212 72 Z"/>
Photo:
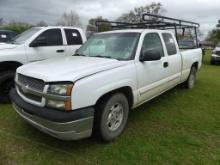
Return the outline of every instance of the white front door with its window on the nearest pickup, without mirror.
<path id="1" fill-rule="evenodd" d="M 139 103 L 143 103 L 165 89 L 166 56 L 158 33 L 148 33 L 144 37 L 141 52 L 155 51 L 160 53 L 161 59 L 155 61 L 139 61 L 137 63 L 137 76 L 139 88 Z M 141 54 L 142 54 L 141 53 Z"/>

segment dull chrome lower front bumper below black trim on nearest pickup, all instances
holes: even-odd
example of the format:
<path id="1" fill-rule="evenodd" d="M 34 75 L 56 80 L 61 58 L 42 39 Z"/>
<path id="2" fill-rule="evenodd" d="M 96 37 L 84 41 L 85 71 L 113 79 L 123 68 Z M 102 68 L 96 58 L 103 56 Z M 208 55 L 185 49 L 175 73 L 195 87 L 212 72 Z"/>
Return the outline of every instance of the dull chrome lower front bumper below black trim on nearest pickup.
<path id="1" fill-rule="evenodd" d="M 93 117 L 67 123 L 58 123 L 26 113 L 14 103 L 12 105 L 16 112 L 28 123 L 55 138 L 61 140 L 78 140 L 90 137 L 92 134 Z"/>

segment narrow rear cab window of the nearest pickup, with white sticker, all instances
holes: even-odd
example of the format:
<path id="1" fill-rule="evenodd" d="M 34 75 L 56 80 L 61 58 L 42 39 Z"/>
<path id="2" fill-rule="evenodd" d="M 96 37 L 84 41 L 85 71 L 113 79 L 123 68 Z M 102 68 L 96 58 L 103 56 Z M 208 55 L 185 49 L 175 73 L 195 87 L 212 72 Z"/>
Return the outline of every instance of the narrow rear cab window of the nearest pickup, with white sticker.
<path id="1" fill-rule="evenodd" d="M 177 54 L 176 44 L 173 36 L 170 33 L 163 33 L 162 35 L 168 55 L 171 56 Z"/>

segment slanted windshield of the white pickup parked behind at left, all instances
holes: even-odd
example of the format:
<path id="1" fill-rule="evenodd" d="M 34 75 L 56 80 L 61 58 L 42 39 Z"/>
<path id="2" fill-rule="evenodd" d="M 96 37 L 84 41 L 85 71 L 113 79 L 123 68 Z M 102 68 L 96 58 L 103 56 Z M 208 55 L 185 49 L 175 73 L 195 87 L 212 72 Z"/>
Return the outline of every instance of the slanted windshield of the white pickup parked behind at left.
<path id="1" fill-rule="evenodd" d="M 41 28 L 39 28 L 39 27 L 31 28 L 31 29 L 21 33 L 20 35 L 16 36 L 11 41 L 11 43 L 13 43 L 13 44 L 23 44 L 23 43 L 25 43 L 25 41 L 27 41 L 27 39 L 29 39 L 31 36 L 33 36 L 39 30 L 41 30 Z"/>

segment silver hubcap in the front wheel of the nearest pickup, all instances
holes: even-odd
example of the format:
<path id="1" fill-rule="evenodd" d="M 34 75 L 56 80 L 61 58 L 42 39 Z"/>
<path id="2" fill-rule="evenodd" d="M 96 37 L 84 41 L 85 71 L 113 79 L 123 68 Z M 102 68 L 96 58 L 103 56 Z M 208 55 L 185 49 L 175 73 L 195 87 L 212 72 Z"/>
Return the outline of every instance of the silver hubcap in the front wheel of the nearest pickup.
<path id="1" fill-rule="evenodd" d="M 124 117 L 124 112 L 123 112 L 123 106 L 120 103 L 114 104 L 108 114 L 108 119 L 107 119 L 107 126 L 110 131 L 115 131 L 117 130 Z"/>

